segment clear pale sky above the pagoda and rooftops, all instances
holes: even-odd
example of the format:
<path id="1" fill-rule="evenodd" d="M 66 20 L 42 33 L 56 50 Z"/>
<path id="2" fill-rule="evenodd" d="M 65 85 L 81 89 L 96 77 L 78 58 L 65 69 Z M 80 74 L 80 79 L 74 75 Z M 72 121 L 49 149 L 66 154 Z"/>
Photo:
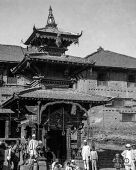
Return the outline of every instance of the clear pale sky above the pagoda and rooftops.
<path id="1" fill-rule="evenodd" d="M 23 46 L 34 25 L 46 25 L 50 5 L 59 28 L 83 31 L 67 54 L 85 57 L 101 46 L 136 57 L 136 0 L 0 0 L 0 44 Z"/>

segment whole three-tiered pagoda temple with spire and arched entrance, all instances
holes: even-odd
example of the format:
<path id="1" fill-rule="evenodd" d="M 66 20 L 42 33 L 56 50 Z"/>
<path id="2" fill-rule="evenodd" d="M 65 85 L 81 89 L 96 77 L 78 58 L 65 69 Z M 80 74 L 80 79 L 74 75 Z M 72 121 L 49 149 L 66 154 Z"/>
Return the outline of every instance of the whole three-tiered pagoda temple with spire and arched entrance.
<path id="1" fill-rule="evenodd" d="M 2 104 L 18 115 L 21 138 L 35 133 L 61 162 L 71 159 L 73 150 L 78 153 L 83 121 L 90 126 L 88 110 L 109 101 L 77 88 L 82 73 L 90 74 L 94 65 L 93 61 L 65 54 L 81 35 L 61 31 L 50 7 L 46 26 L 33 27 L 24 43 L 27 51 L 23 60 L 11 70 L 20 80 L 25 78 L 27 88 Z M 72 139 L 74 132 L 76 139 Z"/>

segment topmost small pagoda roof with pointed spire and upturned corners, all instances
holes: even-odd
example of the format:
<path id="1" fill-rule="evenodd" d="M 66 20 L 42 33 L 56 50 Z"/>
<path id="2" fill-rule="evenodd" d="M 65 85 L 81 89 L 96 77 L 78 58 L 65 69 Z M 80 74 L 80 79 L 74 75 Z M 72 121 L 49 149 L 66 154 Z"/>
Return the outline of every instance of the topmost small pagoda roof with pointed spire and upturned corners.
<path id="1" fill-rule="evenodd" d="M 51 55 L 61 56 L 67 51 L 67 47 L 72 43 L 78 43 L 81 34 L 64 32 L 57 27 L 52 13 L 49 9 L 47 24 L 44 28 L 33 27 L 33 33 L 26 40 L 25 45 L 34 46 L 39 51 L 44 51 Z"/>

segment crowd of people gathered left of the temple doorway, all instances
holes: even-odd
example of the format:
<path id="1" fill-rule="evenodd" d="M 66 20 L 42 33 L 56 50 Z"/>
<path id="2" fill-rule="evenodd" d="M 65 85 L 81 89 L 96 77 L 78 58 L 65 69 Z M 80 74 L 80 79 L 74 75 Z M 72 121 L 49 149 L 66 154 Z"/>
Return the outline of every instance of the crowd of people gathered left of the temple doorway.
<path id="1" fill-rule="evenodd" d="M 7 160 L 7 167 L 9 169 L 17 170 L 19 165 L 30 163 L 32 160 L 36 159 L 41 150 L 39 149 L 41 141 L 36 140 L 36 135 L 32 135 L 32 139 L 27 140 L 16 140 L 12 141 L 10 144 L 5 142 L 0 143 L 0 168 L 3 167 L 5 161 L 5 153 Z M 5 152 L 6 151 L 6 152 Z M 2 169 L 2 168 L 1 168 Z"/>

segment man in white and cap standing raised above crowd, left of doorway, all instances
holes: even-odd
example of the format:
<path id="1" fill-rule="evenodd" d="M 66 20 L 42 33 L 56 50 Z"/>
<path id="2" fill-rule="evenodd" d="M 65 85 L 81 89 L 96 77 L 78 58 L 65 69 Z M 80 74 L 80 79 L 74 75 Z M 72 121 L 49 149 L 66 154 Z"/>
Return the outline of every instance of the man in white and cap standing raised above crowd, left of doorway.
<path id="1" fill-rule="evenodd" d="M 32 139 L 29 141 L 28 144 L 28 152 L 30 155 L 30 159 L 35 159 L 37 157 L 37 146 L 38 146 L 38 141 L 35 139 L 36 135 L 32 135 Z"/>

